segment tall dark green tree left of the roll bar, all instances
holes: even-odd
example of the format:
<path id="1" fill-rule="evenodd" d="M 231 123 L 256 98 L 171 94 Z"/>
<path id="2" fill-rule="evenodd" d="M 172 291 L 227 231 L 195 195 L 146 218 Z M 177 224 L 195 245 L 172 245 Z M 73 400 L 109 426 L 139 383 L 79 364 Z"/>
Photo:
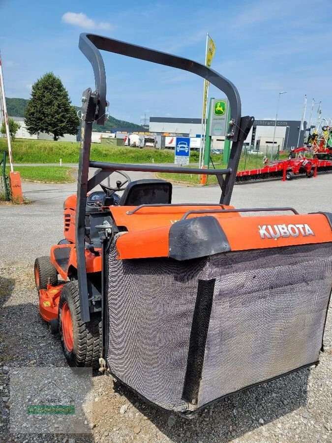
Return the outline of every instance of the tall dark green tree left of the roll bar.
<path id="1" fill-rule="evenodd" d="M 79 120 L 59 77 L 48 72 L 32 85 L 25 123 L 30 134 L 46 132 L 58 140 L 76 134 Z"/>

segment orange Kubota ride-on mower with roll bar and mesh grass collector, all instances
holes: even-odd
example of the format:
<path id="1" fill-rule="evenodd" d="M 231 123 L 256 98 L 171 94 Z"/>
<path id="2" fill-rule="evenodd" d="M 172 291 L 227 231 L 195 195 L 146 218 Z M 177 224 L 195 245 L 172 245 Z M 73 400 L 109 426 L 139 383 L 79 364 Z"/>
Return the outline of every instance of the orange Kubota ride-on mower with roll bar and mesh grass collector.
<path id="1" fill-rule="evenodd" d="M 59 329 L 68 364 L 100 366 L 186 415 L 317 364 L 332 289 L 332 214 L 230 206 L 254 119 L 241 117 L 237 89 L 217 72 L 93 34 L 81 34 L 79 47 L 96 86 L 82 97 L 77 195 L 64 203 L 65 239 L 35 262 L 40 314 Z M 227 95 L 227 168 L 181 169 L 215 175 L 219 202 L 172 204 L 171 183 L 127 175 L 176 167 L 90 160 L 92 123 L 105 120 L 101 49 L 192 72 Z M 98 169 L 92 178 L 89 168 Z M 123 179 L 103 185 L 115 171 Z"/>

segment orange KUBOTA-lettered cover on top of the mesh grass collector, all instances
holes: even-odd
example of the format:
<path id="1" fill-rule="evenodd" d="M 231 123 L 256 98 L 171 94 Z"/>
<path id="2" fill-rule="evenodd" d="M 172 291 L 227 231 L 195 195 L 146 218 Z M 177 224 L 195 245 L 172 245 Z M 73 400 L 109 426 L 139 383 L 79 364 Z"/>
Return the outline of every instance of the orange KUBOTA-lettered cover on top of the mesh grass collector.
<path id="1" fill-rule="evenodd" d="M 192 214 L 188 218 L 191 217 L 204 217 L 204 214 Z M 213 217 L 219 221 L 232 251 L 332 242 L 331 226 L 322 214 L 239 217 L 237 213 L 219 213 Z M 141 226 L 144 225 L 147 221 L 141 218 Z M 167 257 L 170 227 L 171 223 L 121 235 L 117 241 L 118 258 Z"/>

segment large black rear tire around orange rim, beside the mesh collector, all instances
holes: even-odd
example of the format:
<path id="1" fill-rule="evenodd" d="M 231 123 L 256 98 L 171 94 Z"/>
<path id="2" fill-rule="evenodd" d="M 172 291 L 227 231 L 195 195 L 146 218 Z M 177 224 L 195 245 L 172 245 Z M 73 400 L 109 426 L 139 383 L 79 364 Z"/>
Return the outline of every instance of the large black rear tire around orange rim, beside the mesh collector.
<path id="1" fill-rule="evenodd" d="M 68 349 L 62 327 L 63 310 L 69 308 L 72 321 L 72 348 Z M 69 366 L 99 368 L 101 356 L 101 313 L 92 313 L 90 321 L 81 320 L 78 282 L 66 283 L 59 301 L 59 333 L 64 356 Z"/>

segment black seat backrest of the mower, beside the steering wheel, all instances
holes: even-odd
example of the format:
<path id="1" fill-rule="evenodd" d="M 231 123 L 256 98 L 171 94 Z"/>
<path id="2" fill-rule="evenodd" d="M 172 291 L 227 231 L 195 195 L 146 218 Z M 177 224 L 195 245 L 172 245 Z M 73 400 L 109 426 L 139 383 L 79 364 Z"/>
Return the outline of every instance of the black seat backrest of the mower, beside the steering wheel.
<path id="1" fill-rule="evenodd" d="M 172 202 L 172 183 L 165 180 L 146 179 L 129 183 L 121 195 L 119 205 L 138 206 L 168 204 Z"/>

